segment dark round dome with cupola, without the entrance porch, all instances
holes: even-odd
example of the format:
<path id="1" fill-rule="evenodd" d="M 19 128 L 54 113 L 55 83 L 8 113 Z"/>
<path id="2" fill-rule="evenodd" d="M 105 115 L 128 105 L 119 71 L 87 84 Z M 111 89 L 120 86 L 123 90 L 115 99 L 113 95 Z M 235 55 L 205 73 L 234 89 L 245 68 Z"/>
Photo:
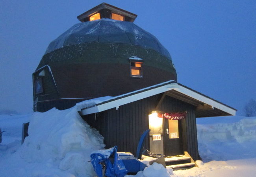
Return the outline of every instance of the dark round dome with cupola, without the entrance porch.
<path id="1" fill-rule="evenodd" d="M 52 41 L 33 73 L 34 111 L 66 109 L 177 80 L 169 52 L 135 25 L 137 15 L 102 3 Z"/>

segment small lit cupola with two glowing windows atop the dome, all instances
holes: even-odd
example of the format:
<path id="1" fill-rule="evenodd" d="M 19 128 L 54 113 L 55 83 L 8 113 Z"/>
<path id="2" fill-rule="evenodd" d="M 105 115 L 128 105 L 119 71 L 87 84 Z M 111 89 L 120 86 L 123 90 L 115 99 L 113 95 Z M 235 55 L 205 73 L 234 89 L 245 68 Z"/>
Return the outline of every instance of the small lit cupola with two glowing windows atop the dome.
<path id="1" fill-rule="evenodd" d="M 113 20 L 134 22 L 136 17 L 137 15 L 135 15 L 134 13 L 130 13 L 128 11 L 125 11 L 123 9 L 120 9 L 118 7 L 115 7 L 103 2 L 102 4 L 96 7 L 93 7 L 89 11 L 86 11 L 85 13 L 78 15 L 77 18 L 81 22 L 94 21 L 102 18 L 110 18 Z"/>

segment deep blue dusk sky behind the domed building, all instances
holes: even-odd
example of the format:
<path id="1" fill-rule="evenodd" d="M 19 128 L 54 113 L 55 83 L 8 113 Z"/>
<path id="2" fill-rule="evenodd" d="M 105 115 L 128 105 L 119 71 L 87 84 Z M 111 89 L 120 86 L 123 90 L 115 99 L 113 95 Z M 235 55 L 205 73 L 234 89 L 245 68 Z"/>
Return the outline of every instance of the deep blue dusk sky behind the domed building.
<path id="1" fill-rule="evenodd" d="M 0 110 L 30 113 L 32 73 L 94 0 L 0 0 Z M 238 109 L 256 100 L 255 0 L 107 0 L 167 48 L 178 82 Z"/>

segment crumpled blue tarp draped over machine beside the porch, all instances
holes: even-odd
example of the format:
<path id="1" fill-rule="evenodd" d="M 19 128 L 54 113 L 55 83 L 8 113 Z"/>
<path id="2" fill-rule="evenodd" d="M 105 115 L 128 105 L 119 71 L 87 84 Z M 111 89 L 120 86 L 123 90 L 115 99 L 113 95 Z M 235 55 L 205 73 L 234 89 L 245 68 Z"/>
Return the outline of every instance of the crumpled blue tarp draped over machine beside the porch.
<path id="1" fill-rule="evenodd" d="M 103 176 L 102 165 L 100 163 L 106 165 L 105 175 L 107 177 L 123 177 L 127 173 L 122 160 L 117 154 L 117 146 L 106 150 L 93 151 L 91 154 L 91 163 L 98 177 Z"/>

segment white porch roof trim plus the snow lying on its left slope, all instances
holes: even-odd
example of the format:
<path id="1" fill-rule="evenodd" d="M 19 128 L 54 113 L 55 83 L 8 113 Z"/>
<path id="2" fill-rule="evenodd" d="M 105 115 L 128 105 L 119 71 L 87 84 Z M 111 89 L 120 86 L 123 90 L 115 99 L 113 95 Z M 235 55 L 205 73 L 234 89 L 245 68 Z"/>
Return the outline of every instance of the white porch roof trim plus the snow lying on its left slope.
<path id="1" fill-rule="evenodd" d="M 146 87 L 144 89 L 135 90 L 133 92 L 129 92 L 126 94 L 115 96 L 115 97 L 108 96 L 108 97 L 101 97 L 101 98 L 95 98 L 92 100 L 82 101 L 80 103 L 77 103 L 77 106 L 79 106 L 79 109 L 81 109 L 82 115 L 87 115 L 87 114 L 92 114 L 92 113 L 112 109 L 114 107 L 118 109 L 119 106 L 121 105 L 131 103 L 133 101 L 141 100 L 141 99 L 144 99 L 156 94 L 160 94 L 163 92 L 167 92 L 170 90 L 175 90 L 177 92 L 180 92 L 186 96 L 189 96 L 194 100 L 198 100 L 202 103 L 210 105 L 212 108 L 217 108 L 230 115 L 236 114 L 236 109 L 229 107 L 228 105 L 224 105 L 219 101 L 213 100 L 212 98 L 204 94 L 201 94 L 195 90 L 192 90 L 184 85 L 181 85 L 180 83 L 177 83 L 176 81 L 173 81 L 173 80 L 166 81 L 157 85 L 153 85 L 151 87 Z"/>

